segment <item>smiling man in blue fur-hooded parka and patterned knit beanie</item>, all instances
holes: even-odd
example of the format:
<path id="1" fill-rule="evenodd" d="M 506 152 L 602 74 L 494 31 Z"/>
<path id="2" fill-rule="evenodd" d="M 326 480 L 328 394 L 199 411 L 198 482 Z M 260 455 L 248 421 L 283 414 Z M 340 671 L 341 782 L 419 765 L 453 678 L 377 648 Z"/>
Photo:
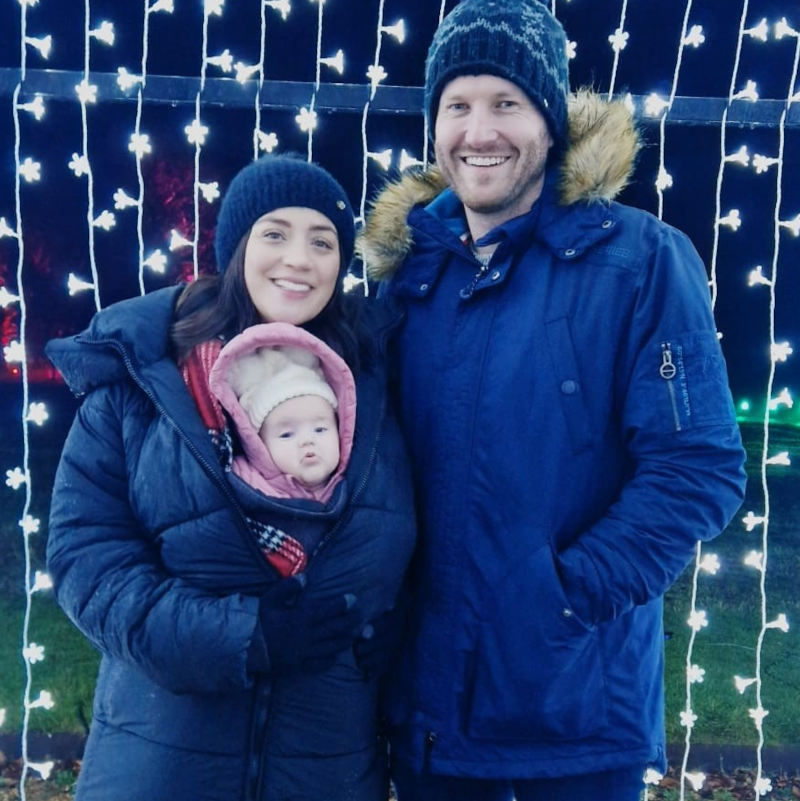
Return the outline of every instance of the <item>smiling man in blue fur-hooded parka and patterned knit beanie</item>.
<path id="1" fill-rule="evenodd" d="M 707 276 L 611 198 L 622 104 L 567 125 L 566 39 L 536 0 L 437 30 L 438 172 L 362 241 L 404 322 L 415 610 L 388 716 L 400 801 L 633 801 L 665 768 L 662 596 L 729 522 L 744 453 Z"/>

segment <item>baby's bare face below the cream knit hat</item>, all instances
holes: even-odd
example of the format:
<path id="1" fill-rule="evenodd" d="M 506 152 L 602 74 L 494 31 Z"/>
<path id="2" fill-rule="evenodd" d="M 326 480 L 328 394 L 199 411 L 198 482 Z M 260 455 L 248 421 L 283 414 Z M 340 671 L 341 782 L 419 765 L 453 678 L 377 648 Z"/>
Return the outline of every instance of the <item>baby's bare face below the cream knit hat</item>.
<path id="1" fill-rule="evenodd" d="M 309 489 L 323 485 L 339 464 L 336 414 L 317 395 L 278 404 L 259 433 L 276 467 Z"/>

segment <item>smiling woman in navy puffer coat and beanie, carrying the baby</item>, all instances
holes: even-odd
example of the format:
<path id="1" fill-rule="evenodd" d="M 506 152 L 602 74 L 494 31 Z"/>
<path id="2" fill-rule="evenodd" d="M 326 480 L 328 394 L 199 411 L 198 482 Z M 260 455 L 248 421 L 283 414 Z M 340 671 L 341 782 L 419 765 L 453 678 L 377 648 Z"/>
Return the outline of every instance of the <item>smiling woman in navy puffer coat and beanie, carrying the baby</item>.
<path id="1" fill-rule="evenodd" d="M 413 501 L 386 398 L 391 324 L 342 292 L 353 240 L 327 172 L 261 159 L 223 200 L 220 275 L 48 346 L 86 395 L 48 541 L 58 601 L 103 655 L 78 801 L 386 798 L 376 674 Z M 304 327 L 355 374 L 352 451 L 324 502 L 267 497 L 229 469 L 240 444 L 208 373 L 264 322 Z"/>

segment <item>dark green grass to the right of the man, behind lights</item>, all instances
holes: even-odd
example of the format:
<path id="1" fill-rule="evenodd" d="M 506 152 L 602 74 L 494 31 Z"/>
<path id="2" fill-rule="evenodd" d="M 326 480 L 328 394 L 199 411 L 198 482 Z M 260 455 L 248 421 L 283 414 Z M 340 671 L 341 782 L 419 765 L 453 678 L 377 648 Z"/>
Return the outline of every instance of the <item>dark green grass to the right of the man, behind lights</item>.
<path id="1" fill-rule="evenodd" d="M 716 553 L 722 567 L 714 575 L 701 572 L 697 608 L 706 611 L 709 625 L 695 638 L 692 662 L 704 668 L 702 683 L 692 685 L 692 708 L 698 720 L 692 742 L 703 744 L 755 745 L 757 731 L 748 710 L 756 706 L 755 687 L 743 695 L 733 677 L 754 677 L 756 644 L 761 627 L 760 574 L 744 564 L 752 550 L 762 550 L 762 527 L 747 532 L 741 519 L 748 510 L 764 510 L 760 480 L 760 437 L 757 427 L 744 428 L 748 446 L 749 483 L 741 511 L 728 529 L 704 553 Z M 794 428 L 773 431 L 770 454 L 789 450 L 795 457 L 791 467 L 768 468 L 771 498 L 766 581 L 766 620 L 786 614 L 789 631 L 766 632 L 761 654 L 762 706 L 769 711 L 764 720 L 768 745 L 799 744 L 800 721 L 800 432 Z M 686 652 L 691 630 L 686 624 L 690 610 L 692 575 L 690 565 L 666 597 L 664 627 L 672 632 L 665 644 L 667 693 L 667 739 L 682 742 L 685 729 L 679 713 L 685 706 Z"/>

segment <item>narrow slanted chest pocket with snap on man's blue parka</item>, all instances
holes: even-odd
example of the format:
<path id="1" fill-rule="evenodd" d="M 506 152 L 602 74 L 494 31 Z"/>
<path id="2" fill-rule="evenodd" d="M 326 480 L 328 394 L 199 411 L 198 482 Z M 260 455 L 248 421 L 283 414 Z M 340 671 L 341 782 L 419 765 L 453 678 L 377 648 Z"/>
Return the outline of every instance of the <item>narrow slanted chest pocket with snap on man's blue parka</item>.
<path id="1" fill-rule="evenodd" d="M 586 388 L 578 372 L 578 360 L 572 344 L 569 320 L 566 317 L 548 320 L 546 330 L 550 363 L 572 452 L 580 453 L 592 447 L 592 432 L 589 428 L 590 415 L 584 395 Z"/>

